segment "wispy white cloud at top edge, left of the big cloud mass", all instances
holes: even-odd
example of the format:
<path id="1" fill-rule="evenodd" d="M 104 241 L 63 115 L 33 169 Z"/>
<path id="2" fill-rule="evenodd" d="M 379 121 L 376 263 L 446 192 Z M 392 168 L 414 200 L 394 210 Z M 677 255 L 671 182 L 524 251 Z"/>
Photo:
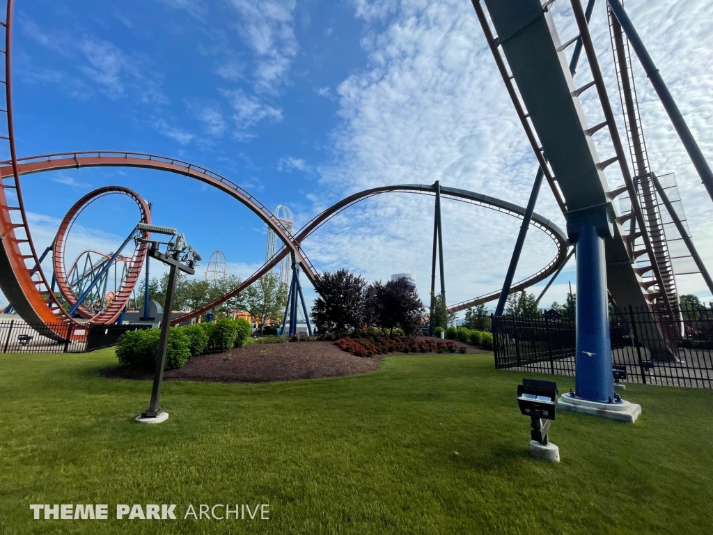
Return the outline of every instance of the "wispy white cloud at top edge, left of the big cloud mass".
<path id="1" fill-rule="evenodd" d="M 230 0 L 240 14 L 240 36 L 252 49 L 256 91 L 275 92 L 287 82 L 298 45 L 294 36 L 295 0 Z"/>

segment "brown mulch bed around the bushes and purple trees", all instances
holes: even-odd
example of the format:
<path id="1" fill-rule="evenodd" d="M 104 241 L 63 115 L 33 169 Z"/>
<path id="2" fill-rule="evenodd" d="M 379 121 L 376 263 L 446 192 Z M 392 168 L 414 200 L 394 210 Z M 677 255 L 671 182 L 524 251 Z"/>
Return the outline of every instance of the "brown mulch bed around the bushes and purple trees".
<path id="1" fill-rule="evenodd" d="M 468 353 L 487 352 L 461 342 L 458 345 L 466 347 Z M 334 342 L 251 344 L 225 353 L 200 355 L 179 370 L 164 372 L 163 378 L 168 381 L 270 382 L 344 377 L 373 372 L 384 356 L 356 357 L 340 350 Z M 153 371 L 130 366 L 103 370 L 101 374 L 111 379 L 153 379 Z"/>

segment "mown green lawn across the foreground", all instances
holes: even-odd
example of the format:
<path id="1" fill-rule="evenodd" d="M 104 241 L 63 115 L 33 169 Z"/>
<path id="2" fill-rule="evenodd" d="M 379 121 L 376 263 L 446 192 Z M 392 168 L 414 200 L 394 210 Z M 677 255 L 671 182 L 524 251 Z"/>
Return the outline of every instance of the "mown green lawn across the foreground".
<path id="1" fill-rule="evenodd" d="M 135 424 L 150 382 L 103 379 L 113 350 L 0 356 L 1 534 L 710 533 L 713 392 L 633 385 L 634 425 L 561 413 L 562 462 L 528 455 L 525 374 L 492 355 L 399 355 L 357 377 L 168 382 L 168 422 Z M 532 376 L 535 377 L 535 376 Z M 573 379 L 558 377 L 560 391 Z M 108 504 L 33 520 L 29 504 Z M 113 519 L 177 504 L 178 520 Z M 270 520 L 183 519 L 270 504 Z M 220 513 L 220 509 L 217 511 Z"/>

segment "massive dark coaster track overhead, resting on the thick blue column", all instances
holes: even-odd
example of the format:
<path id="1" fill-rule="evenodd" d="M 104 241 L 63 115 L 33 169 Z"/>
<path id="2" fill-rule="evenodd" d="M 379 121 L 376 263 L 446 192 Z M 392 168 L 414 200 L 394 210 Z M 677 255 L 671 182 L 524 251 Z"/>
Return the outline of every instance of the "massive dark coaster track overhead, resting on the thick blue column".
<path id="1" fill-rule="evenodd" d="M 510 0 L 484 0 L 497 37 L 481 0 L 471 3 L 515 111 L 563 212 L 608 203 L 622 193 L 630 196 L 632 211 L 617 217 L 615 237 L 605 243 L 610 295 L 619 306 L 652 307 L 655 303 L 660 310 L 672 312 L 649 234 L 639 231 L 627 235 L 622 228 L 631 218 L 635 218 L 640 229 L 646 229 L 647 225 L 580 0 L 571 0 L 579 34 L 564 44 L 560 43 L 548 9 L 551 2 L 543 7 L 540 0 L 518 0 L 514 4 Z M 580 88 L 575 86 L 563 54 L 578 41 L 583 45 L 593 76 L 590 83 Z M 580 95 L 592 87 L 599 96 L 605 121 L 590 127 Z M 605 127 L 615 156 L 600 161 L 593 136 Z M 548 161 L 543 153 L 547 153 Z M 615 162 L 625 185 L 609 190 L 604 170 Z M 649 265 L 638 267 L 636 260 L 643 258 Z M 642 275 L 648 272 L 650 280 L 642 280 Z M 654 291 L 647 292 L 650 289 Z"/>

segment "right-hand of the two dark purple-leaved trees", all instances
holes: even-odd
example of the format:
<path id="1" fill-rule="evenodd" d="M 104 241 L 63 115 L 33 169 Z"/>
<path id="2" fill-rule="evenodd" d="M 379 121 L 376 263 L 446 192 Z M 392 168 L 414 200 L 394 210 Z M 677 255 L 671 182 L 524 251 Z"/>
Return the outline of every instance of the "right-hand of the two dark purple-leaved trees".
<path id="1" fill-rule="evenodd" d="M 386 282 L 378 295 L 379 325 L 390 333 L 401 327 L 405 335 L 415 335 L 426 312 L 416 289 L 400 278 Z"/>

